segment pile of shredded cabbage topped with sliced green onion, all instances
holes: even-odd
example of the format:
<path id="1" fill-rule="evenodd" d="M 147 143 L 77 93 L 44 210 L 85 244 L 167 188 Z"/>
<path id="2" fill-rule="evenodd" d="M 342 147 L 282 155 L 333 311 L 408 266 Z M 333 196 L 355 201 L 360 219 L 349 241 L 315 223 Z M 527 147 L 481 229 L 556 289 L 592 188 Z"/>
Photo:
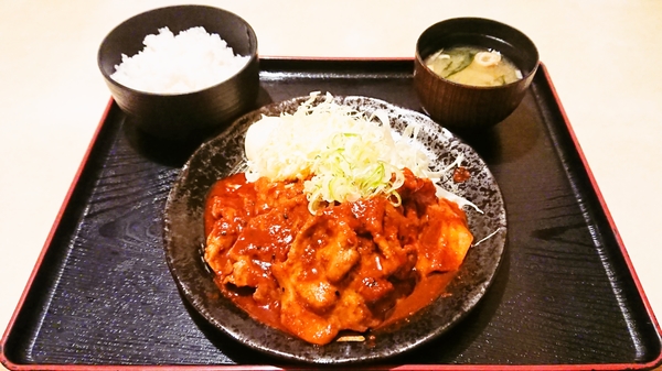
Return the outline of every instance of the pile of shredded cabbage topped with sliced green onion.
<path id="1" fill-rule="evenodd" d="M 404 182 L 405 167 L 434 183 L 440 179 L 440 173 L 429 170 L 427 154 L 415 145 L 417 127 L 409 126 L 398 134 L 384 111 L 367 117 L 334 102 L 330 94 L 313 105 L 318 95 L 312 92 L 291 114 L 263 116 L 248 128 L 248 182 L 260 176 L 271 181 L 310 177 L 305 193 L 314 214 L 324 203 L 378 194 L 399 204 L 397 188 Z"/>

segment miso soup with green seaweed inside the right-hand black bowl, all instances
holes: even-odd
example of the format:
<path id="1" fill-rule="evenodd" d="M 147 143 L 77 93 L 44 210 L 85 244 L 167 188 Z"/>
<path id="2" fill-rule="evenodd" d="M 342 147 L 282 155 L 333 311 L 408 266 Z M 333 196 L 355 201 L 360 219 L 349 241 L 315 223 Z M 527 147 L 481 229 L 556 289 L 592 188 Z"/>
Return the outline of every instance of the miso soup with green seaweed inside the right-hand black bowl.
<path id="1" fill-rule="evenodd" d="M 500 86 L 522 78 L 522 72 L 501 53 L 473 46 L 440 50 L 425 64 L 435 74 L 465 85 Z"/>

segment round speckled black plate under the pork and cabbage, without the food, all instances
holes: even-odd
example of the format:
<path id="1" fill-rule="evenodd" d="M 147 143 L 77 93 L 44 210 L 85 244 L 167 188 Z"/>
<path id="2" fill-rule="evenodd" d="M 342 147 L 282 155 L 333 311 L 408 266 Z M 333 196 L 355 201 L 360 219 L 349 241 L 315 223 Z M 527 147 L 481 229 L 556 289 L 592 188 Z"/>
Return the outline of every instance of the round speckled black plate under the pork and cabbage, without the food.
<path id="1" fill-rule="evenodd" d="M 223 297 L 214 284 L 213 274 L 202 258 L 207 190 L 216 179 L 243 168 L 246 162 L 244 138 L 253 122 L 261 114 L 293 112 L 308 97 L 273 103 L 242 117 L 228 130 L 203 144 L 183 166 L 168 198 L 164 216 L 167 261 L 180 292 L 214 327 L 254 349 L 289 360 L 343 363 L 383 359 L 444 334 L 476 306 L 500 265 L 506 234 L 501 190 L 484 161 L 467 143 L 419 112 L 373 98 L 334 99 L 369 113 L 384 110 L 392 118 L 392 127 L 398 131 L 409 123 L 419 126 L 419 142 L 437 156 L 433 170 L 440 170 L 461 154 L 465 157 L 462 165 L 472 174 L 457 194 L 476 204 L 482 212 L 466 207 L 474 245 L 448 286 L 450 295 L 439 297 L 407 320 L 371 332 L 374 341 L 332 342 L 320 347 L 253 320 Z"/>

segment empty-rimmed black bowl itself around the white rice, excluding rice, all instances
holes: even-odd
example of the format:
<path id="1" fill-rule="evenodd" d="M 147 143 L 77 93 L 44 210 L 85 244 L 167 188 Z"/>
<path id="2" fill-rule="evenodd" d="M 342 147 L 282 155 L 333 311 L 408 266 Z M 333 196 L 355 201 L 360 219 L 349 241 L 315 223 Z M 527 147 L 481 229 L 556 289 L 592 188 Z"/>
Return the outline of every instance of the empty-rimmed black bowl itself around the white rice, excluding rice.
<path id="1" fill-rule="evenodd" d="M 113 79 L 121 55 L 134 56 L 145 48 L 148 34 L 168 26 L 173 34 L 194 26 L 218 34 L 234 54 L 248 63 L 229 78 L 211 87 L 182 94 L 141 91 Z M 150 10 L 117 25 L 104 39 L 97 62 L 106 85 L 127 122 L 154 139 L 202 141 L 253 110 L 259 90 L 257 37 L 238 15 L 206 6 L 175 6 Z"/>

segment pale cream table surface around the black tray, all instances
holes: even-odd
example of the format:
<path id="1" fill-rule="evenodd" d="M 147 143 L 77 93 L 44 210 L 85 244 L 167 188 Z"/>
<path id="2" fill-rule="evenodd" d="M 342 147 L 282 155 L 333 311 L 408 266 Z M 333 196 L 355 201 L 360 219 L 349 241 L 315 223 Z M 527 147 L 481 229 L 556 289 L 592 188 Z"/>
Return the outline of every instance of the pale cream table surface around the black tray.
<path id="1" fill-rule="evenodd" d="M 104 36 L 181 2 L 0 1 L 0 330 L 9 323 L 109 91 Z M 662 2 L 200 1 L 255 29 L 263 56 L 412 57 L 448 18 L 508 23 L 537 45 L 653 312 L 662 317 Z M 1 369 L 1 367 L 0 367 Z"/>

